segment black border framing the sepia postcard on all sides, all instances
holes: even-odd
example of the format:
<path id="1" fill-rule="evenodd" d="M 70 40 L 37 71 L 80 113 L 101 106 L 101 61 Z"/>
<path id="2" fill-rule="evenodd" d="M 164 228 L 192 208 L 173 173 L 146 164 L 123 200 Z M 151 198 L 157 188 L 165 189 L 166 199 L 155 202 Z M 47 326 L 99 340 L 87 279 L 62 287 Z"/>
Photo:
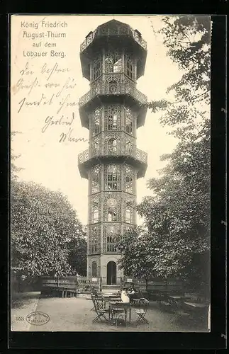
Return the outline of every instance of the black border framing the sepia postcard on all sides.
<path id="1" fill-rule="evenodd" d="M 153 1 L 153 3 L 157 1 Z M 204 3 L 205 1 L 202 1 Z M 34 4 L 34 3 L 33 3 Z M 37 4 L 37 3 L 36 3 Z M 190 3 L 191 4 L 191 3 Z M 188 6 L 190 6 L 187 3 Z M 192 2 L 192 7 L 193 7 Z M 103 1 L 100 2 L 100 9 L 105 6 Z M 158 3 L 157 3 L 158 5 Z M 209 5 L 209 4 L 208 4 Z M 20 4 L 21 6 L 21 4 Z M 20 7 L 18 6 L 18 7 Z M 152 14 L 176 14 L 174 11 L 168 11 L 169 6 L 164 6 L 161 11 L 158 11 L 156 6 L 153 11 L 149 11 L 149 8 L 144 8 L 144 13 Z M 4 229 L 6 233 L 3 239 L 4 247 L 1 251 L 4 251 L 1 257 L 5 282 L 1 282 L 1 294 L 5 288 L 5 301 L 6 307 L 3 310 L 3 316 L 6 317 L 8 323 L 6 327 L 6 339 L 8 339 L 8 348 L 11 349 L 29 349 L 30 352 L 36 349 L 55 349 L 64 350 L 106 350 L 106 349 L 132 349 L 132 350 L 171 350 L 171 349 L 224 349 L 226 346 L 226 329 L 225 329 L 225 301 L 226 301 L 226 283 L 225 283 L 225 173 L 226 173 L 226 17 L 225 11 L 216 14 L 216 11 L 207 13 L 207 7 L 205 12 L 190 10 L 184 11 L 183 15 L 194 14 L 196 16 L 206 15 L 211 16 L 213 21 L 212 28 L 212 56 L 211 56 L 211 332 L 210 333 L 171 333 L 171 332 L 152 332 L 152 333 L 102 333 L 102 332 L 12 332 L 9 327 L 9 61 L 8 61 L 8 46 L 9 37 L 6 36 L 6 42 L 4 44 L 4 50 L 1 55 L 4 55 L 4 60 L 1 61 L 4 69 L 4 85 L 1 86 L 1 96 L 4 95 L 4 99 L 1 103 L 4 103 L 4 109 L 1 110 L 1 153 L 3 152 L 3 169 L 1 169 L 1 176 L 4 175 L 3 183 L 1 183 L 1 202 L 3 202 L 4 210 L 6 212 L 6 219 L 4 220 Z M 22 8 L 22 7 L 21 7 Z M 165 8 L 167 11 L 165 12 Z M 142 8 L 143 9 L 143 8 Z M 174 6 L 173 6 L 174 9 Z M 213 9 L 213 8 L 212 8 Z M 109 14 L 113 8 L 108 9 L 107 13 L 95 11 L 93 14 Z M 123 9 L 124 10 L 124 9 Z M 131 10 L 133 13 L 134 6 Z M 102 10 L 101 10 L 102 11 Z M 220 11 L 218 11 L 220 12 Z M 18 13 L 20 15 L 26 14 L 48 14 L 47 11 L 35 12 L 34 9 L 31 12 L 25 11 L 13 12 L 8 11 L 10 14 Z M 83 13 L 83 12 L 81 12 Z M 116 15 L 125 14 L 125 11 L 113 11 Z M 179 10 L 181 13 L 181 7 Z M 70 13 L 52 13 L 53 15 L 70 14 Z M 73 14 L 73 13 L 71 13 Z M 74 13 L 77 14 L 77 13 Z M 84 12 L 84 14 L 86 14 Z M 91 13 L 92 14 L 92 13 Z M 1 35 L 7 34 L 8 16 L 6 16 L 6 23 L 4 25 Z M 82 33 L 83 35 L 83 33 Z M 8 33 L 9 36 L 9 33 Z M 3 114 L 5 113 L 5 115 Z M 6 341 L 7 343 L 7 341 Z"/>

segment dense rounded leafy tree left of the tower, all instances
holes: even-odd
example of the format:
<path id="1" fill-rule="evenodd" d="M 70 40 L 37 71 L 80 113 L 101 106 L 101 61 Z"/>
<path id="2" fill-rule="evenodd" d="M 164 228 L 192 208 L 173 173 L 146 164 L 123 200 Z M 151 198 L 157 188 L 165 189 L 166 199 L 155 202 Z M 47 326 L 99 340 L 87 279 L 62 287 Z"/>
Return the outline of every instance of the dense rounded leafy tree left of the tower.
<path id="1" fill-rule="evenodd" d="M 65 195 L 35 183 L 11 181 L 14 271 L 30 277 L 85 273 L 84 236 Z"/>

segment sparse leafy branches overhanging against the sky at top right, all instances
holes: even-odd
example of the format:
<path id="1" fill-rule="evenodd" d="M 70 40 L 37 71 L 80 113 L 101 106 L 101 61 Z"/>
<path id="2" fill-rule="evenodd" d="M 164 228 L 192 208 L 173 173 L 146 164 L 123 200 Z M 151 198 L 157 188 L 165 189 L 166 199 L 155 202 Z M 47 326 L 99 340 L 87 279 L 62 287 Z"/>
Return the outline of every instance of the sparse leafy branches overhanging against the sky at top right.
<path id="1" fill-rule="evenodd" d="M 169 16 L 159 31 L 167 47 L 167 55 L 183 74 L 167 89 L 174 101 L 151 101 L 152 112 L 164 111 L 163 126 L 181 140 L 204 136 L 209 125 L 211 84 L 211 21 L 208 16 Z"/>

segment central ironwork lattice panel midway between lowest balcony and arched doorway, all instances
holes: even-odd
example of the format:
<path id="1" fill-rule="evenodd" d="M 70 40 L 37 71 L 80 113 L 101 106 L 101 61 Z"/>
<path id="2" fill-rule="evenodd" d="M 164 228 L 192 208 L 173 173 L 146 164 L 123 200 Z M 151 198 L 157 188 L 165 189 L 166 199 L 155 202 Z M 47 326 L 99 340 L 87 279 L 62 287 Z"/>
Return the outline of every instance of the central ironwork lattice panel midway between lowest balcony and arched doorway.
<path id="1" fill-rule="evenodd" d="M 121 221 L 121 200 L 119 193 L 108 193 L 104 197 L 104 221 Z"/>

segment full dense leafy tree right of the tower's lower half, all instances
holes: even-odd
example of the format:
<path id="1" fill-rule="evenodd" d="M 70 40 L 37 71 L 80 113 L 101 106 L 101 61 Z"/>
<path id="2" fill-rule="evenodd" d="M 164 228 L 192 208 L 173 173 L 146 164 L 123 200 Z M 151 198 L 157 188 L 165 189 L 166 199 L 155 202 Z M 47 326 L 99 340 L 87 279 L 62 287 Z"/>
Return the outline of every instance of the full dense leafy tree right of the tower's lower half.
<path id="1" fill-rule="evenodd" d="M 193 265 L 199 272 L 195 281 L 206 282 L 198 262 L 210 248 L 210 156 L 208 139 L 188 142 L 186 150 L 178 145 L 166 156 L 162 176 L 148 182 L 155 195 L 144 198 L 138 212 L 145 217 L 157 275 L 187 280 Z"/>

